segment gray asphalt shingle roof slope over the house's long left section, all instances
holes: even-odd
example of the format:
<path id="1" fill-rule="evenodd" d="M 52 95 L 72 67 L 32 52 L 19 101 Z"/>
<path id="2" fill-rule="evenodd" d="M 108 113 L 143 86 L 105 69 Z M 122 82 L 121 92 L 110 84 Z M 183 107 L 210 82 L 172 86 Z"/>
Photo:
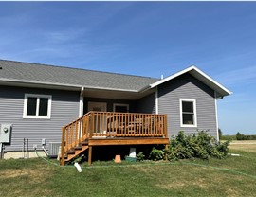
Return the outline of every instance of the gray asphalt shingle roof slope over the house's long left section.
<path id="1" fill-rule="evenodd" d="M 138 91 L 159 79 L 39 63 L 0 60 L 0 79 Z"/>

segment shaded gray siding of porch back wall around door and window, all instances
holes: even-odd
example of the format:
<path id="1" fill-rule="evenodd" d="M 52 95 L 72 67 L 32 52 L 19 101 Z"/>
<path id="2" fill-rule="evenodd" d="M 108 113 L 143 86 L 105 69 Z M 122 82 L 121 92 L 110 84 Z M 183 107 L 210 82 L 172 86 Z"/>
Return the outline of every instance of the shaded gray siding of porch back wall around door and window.
<path id="1" fill-rule="evenodd" d="M 107 112 L 113 112 L 114 103 L 129 104 L 129 112 L 136 112 L 136 101 L 124 99 L 100 99 L 100 98 L 84 98 L 83 114 L 88 112 L 88 102 L 105 102 L 107 104 Z"/>

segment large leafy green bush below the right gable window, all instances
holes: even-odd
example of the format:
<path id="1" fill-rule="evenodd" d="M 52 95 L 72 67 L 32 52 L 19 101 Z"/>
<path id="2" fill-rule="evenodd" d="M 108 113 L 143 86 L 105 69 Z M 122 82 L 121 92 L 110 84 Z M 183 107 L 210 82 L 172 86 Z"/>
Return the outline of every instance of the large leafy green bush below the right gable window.
<path id="1" fill-rule="evenodd" d="M 220 143 L 205 131 L 189 135 L 181 131 L 170 139 L 168 159 L 223 158 L 228 155 L 228 146 L 229 140 Z"/>

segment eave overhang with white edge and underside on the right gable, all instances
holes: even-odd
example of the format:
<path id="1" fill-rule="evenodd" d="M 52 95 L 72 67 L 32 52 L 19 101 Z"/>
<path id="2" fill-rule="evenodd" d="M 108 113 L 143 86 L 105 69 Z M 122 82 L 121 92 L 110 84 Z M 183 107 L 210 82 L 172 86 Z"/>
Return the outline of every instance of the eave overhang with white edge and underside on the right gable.
<path id="1" fill-rule="evenodd" d="M 180 72 L 175 73 L 174 75 L 171 75 L 163 80 L 160 81 L 156 81 L 155 83 L 150 84 L 151 88 L 155 88 L 156 86 L 167 82 L 167 81 L 171 81 L 174 78 L 181 76 L 185 73 L 190 73 L 194 78 L 196 78 L 197 80 L 205 83 L 206 85 L 208 85 L 212 90 L 214 90 L 216 92 L 216 97 L 220 98 L 220 97 L 226 97 L 232 94 L 231 91 L 229 91 L 226 87 L 224 87 L 223 85 L 221 85 L 220 83 L 218 83 L 217 81 L 214 81 L 212 78 L 210 78 L 210 76 L 208 76 L 207 74 L 205 74 L 203 71 L 199 70 L 197 67 L 195 67 L 194 65 L 192 65 L 191 67 L 184 69 Z"/>

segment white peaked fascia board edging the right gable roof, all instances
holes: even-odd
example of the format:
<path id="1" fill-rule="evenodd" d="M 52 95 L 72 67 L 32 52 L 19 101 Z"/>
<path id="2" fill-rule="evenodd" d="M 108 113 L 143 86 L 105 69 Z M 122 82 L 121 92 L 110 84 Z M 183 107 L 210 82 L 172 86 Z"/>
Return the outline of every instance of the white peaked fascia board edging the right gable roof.
<path id="1" fill-rule="evenodd" d="M 194 70 L 195 72 L 197 72 L 199 75 L 203 76 L 203 78 L 207 81 L 210 81 L 211 83 L 213 83 L 214 85 L 218 86 L 219 88 L 221 88 L 223 91 L 225 91 L 227 93 L 227 95 L 231 95 L 232 92 L 230 92 L 227 88 L 225 88 L 223 85 L 221 85 L 220 83 L 218 83 L 217 81 L 214 81 L 212 78 L 210 78 L 210 76 L 208 76 L 207 74 L 205 74 L 204 72 L 202 72 L 201 70 L 199 70 L 197 67 L 195 67 L 194 65 L 181 70 L 180 72 L 175 73 L 174 75 L 171 75 L 163 80 L 160 81 L 156 81 L 155 83 L 150 84 L 151 88 L 154 88 L 155 86 L 158 86 L 166 81 L 170 81 L 173 80 L 174 78 L 181 76 L 185 73 L 190 73 L 192 72 L 192 70 Z M 196 78 L 196 76 L 194 76 Z M 205 81 L 202 81 L 205 82 Z"/>

